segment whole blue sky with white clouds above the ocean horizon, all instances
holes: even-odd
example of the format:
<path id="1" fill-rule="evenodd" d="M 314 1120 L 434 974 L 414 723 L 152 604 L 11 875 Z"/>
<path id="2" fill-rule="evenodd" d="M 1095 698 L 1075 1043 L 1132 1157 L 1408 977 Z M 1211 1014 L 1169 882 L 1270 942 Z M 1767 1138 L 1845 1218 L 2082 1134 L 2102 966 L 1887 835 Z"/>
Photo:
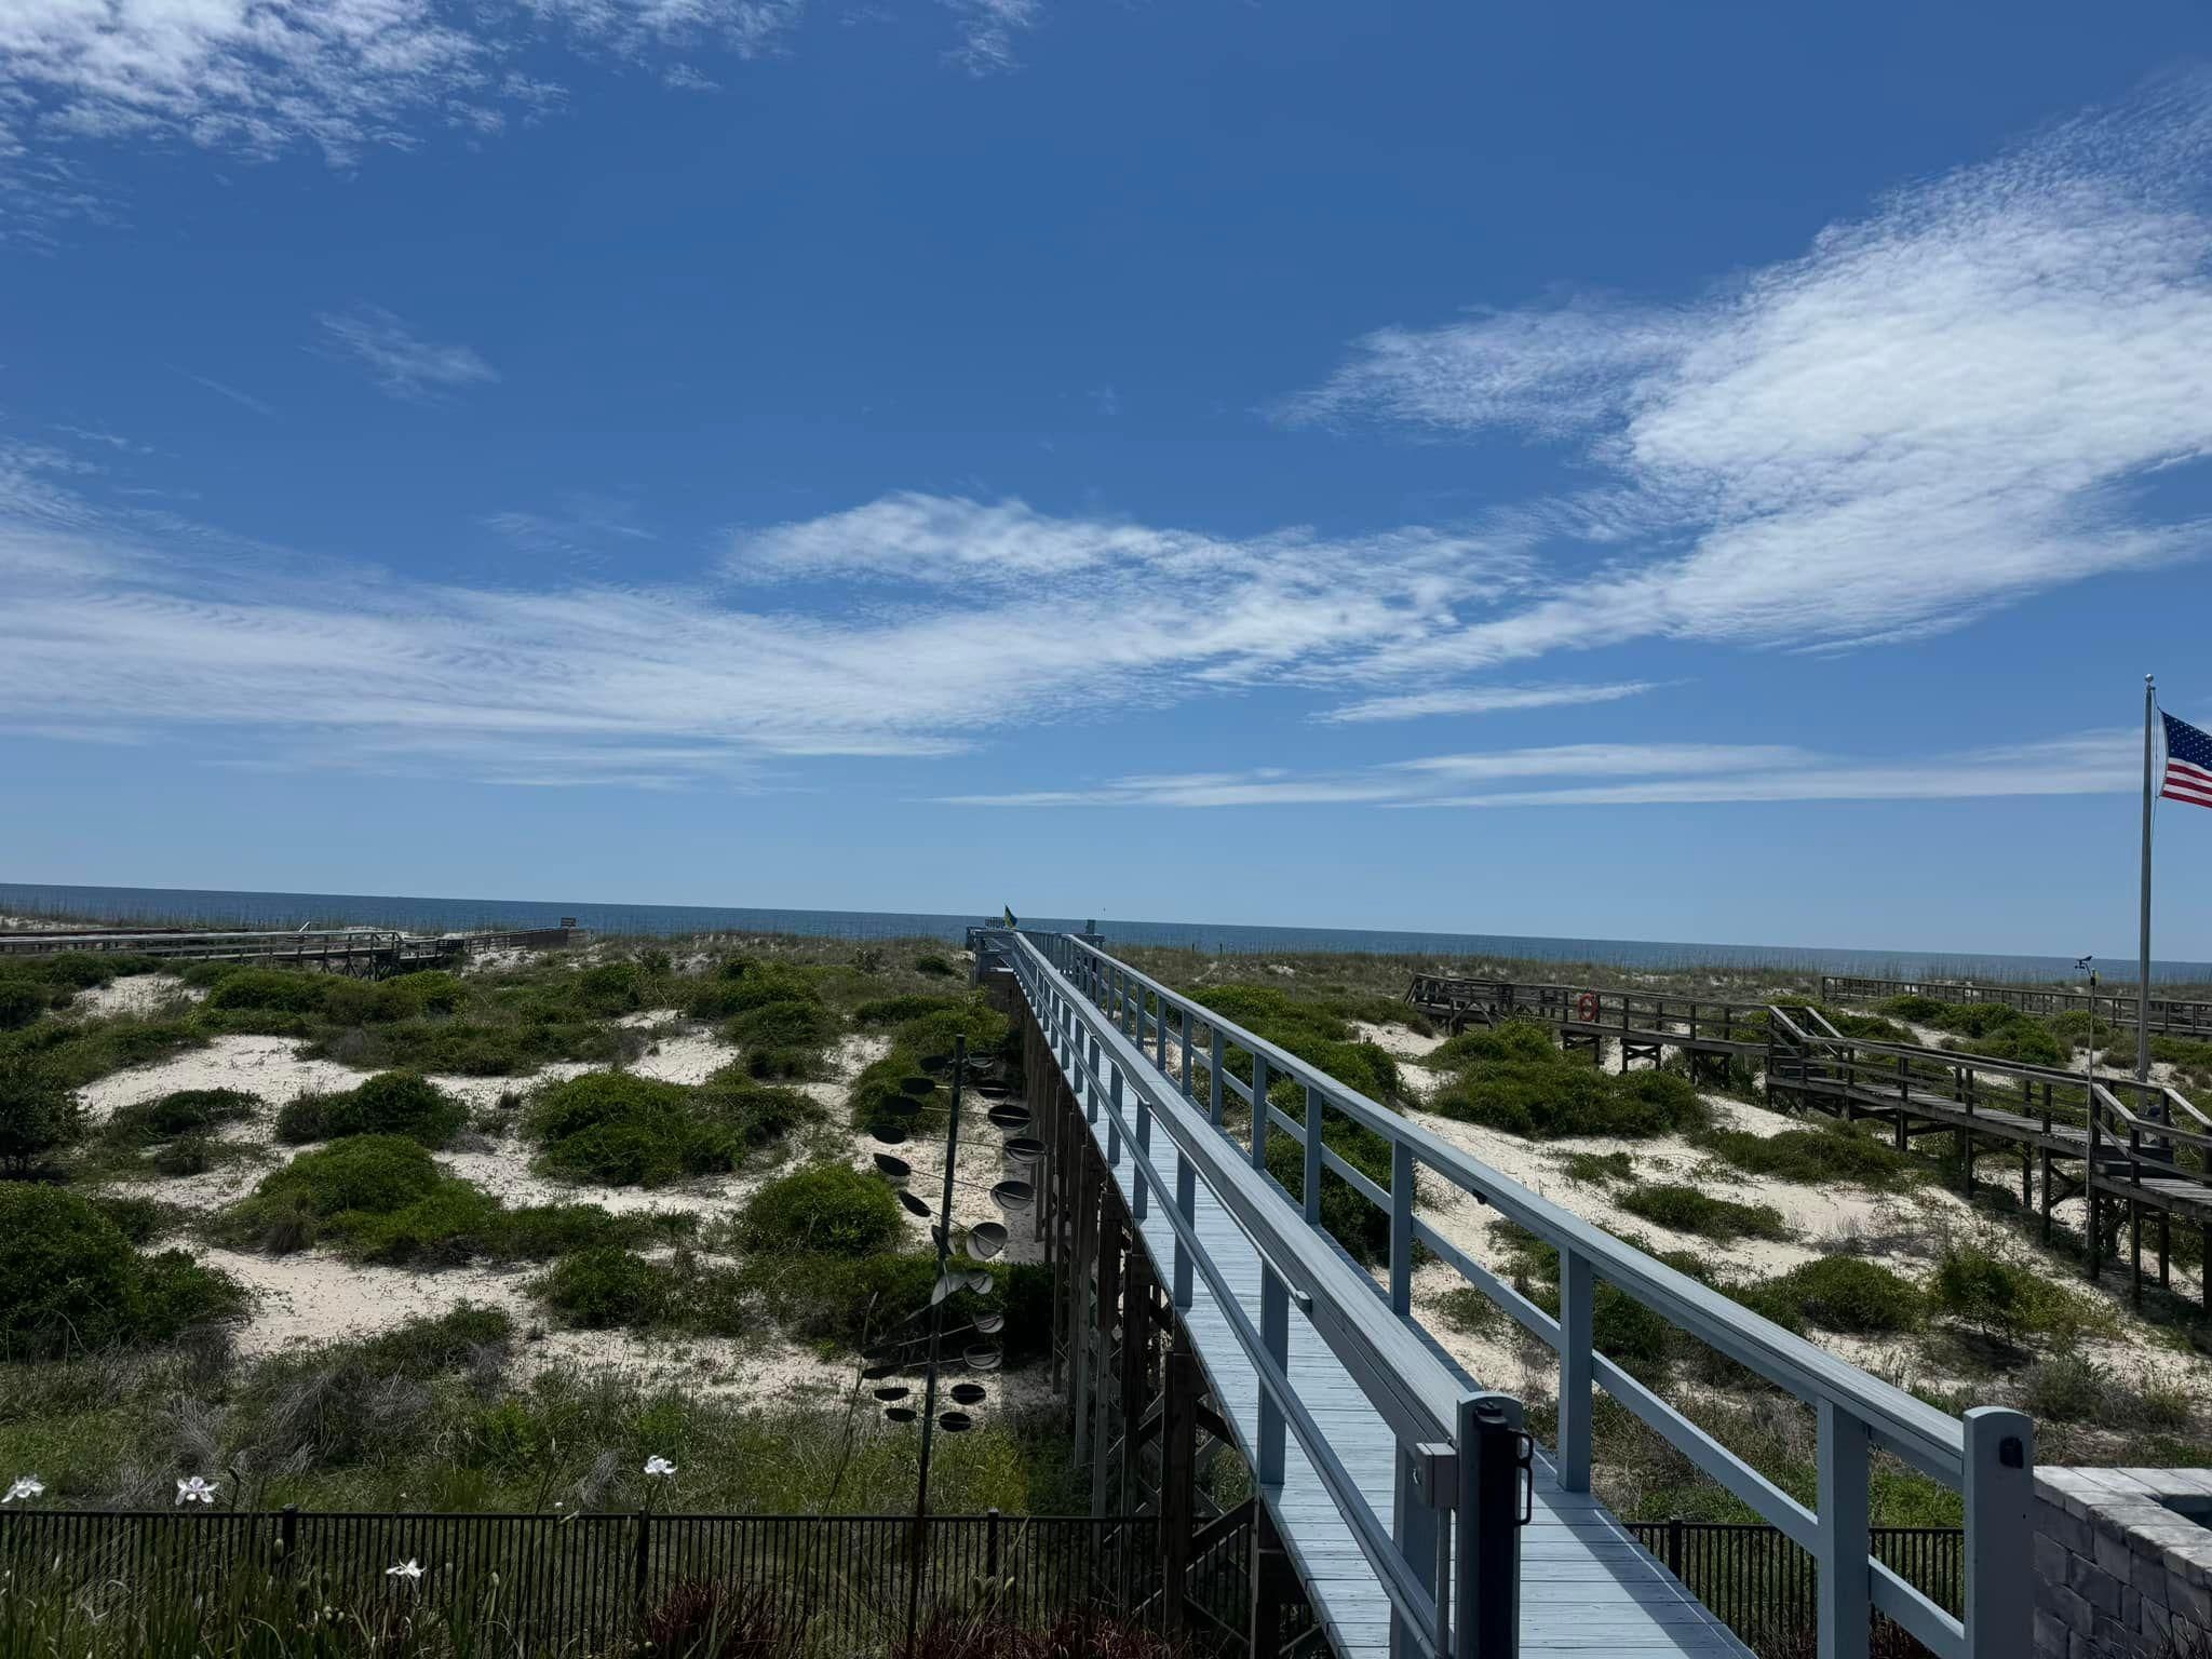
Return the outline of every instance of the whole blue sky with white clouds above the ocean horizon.
<path id="1" fill-rule="evenodd" d="M 2212 723 L 2208 64 L 18 0 L 0 874 L 2130 953 L 2143 672 Z"/>

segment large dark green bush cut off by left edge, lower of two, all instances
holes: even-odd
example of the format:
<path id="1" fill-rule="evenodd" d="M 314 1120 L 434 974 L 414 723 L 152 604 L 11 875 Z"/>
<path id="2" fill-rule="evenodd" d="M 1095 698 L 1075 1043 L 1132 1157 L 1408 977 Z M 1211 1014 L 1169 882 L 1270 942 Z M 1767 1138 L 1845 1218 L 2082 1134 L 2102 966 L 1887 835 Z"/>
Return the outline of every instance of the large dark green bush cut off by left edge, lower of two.
<path id="1" fill-rule="evenodd" d="M 9 1356 L 159 1343 L 243 1307 L 237 1281 L 181 1250 L 139 1254 L 77 1192 L 0 1186 L 0 1347 Z"/>

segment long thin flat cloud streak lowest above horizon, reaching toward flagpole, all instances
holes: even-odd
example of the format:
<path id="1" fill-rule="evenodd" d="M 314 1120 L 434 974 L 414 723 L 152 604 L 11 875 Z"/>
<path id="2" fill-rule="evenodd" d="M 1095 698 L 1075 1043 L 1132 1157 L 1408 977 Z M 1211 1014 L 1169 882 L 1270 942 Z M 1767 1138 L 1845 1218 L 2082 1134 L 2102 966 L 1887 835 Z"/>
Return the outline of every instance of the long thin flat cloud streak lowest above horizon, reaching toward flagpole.
<path id="1" fill-rule="evenodd" d="M 1816 754 L 1765 743 L 1577 743 L 1438 754 L 1358 772 L 1283 770 L 1119 776 L 1066 790 L 942 796 L 971 807 L 1619 807 L 1730 801 L 1969 801 L 2033 794 L 2115 794 L 2135 787 L 2132 732 L 1902 759 Z M 1535 790 L 1467 794 L 1469 783 L 1586 779 Z"/>

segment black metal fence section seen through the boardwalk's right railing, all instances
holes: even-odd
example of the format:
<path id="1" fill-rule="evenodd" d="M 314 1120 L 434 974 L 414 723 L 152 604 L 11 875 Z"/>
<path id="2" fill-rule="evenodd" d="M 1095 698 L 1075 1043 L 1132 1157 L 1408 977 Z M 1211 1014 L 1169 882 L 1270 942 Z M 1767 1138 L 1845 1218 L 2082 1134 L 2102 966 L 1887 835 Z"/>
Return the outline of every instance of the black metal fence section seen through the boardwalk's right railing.
<path id="1" fill-rule="evenodd" d="M 1809 1553 L 1765 1522 L 1628 1522 L 1690 1593 L 1763 1655 L 1812 1652 L 1820 1586 Z M 1874 1557 L 1953 1617 L 1966 1604 L 1966 1535 L 1955 1526 L 1876 1526 Z M 1882 1615 L 1876 1615 L 1887 1624 Z M 1902 1630 L 1896 1641 L 1920 1650 Z M 1885 1648 L 1889 1650 L 1889 1648 Z"/>

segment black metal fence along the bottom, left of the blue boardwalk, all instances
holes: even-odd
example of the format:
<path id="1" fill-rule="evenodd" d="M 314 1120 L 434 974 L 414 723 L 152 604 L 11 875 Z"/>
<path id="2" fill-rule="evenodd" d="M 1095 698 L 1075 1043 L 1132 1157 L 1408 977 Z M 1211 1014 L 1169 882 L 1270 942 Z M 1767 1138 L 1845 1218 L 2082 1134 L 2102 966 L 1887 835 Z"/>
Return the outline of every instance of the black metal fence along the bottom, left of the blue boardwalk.
<path id="1" fill-rule="evenodd" d="M 1248 1555 L 1250 1528 L 1228 1531 L 1201 1557 L 1192 1599 L 1234 1606 Z M 823 1650 L 874 1652 L 900 1628 L 914 1568 L 911 1515 L 0 1513 L 0 1573 L 18 1597 L 106 1617 L 296 1582 L 352 1613 L 436 1610 L 509 1650 L 626 1646 L 677 1586 L 712 1582 L 776 1599 Z M 1022 1626 L 1082 1610 L 1150 1624 L 1159 1524 L 936 1515 L 920 1573 L 927 1608 L 989 1608 Z"/>

